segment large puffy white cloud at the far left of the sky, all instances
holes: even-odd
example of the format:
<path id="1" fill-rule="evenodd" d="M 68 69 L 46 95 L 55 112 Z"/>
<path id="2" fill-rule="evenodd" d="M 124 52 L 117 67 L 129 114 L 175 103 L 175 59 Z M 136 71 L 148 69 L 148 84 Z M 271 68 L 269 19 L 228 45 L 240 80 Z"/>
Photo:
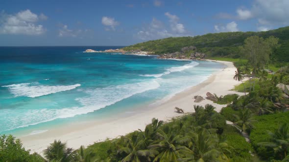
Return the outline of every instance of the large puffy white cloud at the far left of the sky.
<path id="1" fill-rule="evenodd" d="M 15 15 L 1 13 L 0 34 L 41 35 L 46 29 L 36 24 L 39 17 L 30 10 L 20 11 Z"/>

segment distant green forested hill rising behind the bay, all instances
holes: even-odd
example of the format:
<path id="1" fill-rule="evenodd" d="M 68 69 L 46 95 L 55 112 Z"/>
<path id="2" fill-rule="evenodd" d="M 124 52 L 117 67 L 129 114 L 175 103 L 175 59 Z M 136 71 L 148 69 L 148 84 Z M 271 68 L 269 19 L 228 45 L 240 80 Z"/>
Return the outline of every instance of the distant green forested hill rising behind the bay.
<path id="1" fill-rule="evenodd" d="M 195 37 L 176 37 L 166 38 L 155 41 L 146 41 L 124 47 L 126 51 L 142 50 L 154 52 L 162 55 L 166 53 L 178 52 L 183 47 L 195 46 L 197 52 L 207 54 L 209 57 L 241 57 L 239 46 L 241 46 L 247 37 L 257 35 L 268 38 L 274 36 L 279 38 L 281 47 L 275 51 L 276 61 L 289 61 L 289 26 L 282 27 L 266 32 L 227 32 L 210 33 Z"/>

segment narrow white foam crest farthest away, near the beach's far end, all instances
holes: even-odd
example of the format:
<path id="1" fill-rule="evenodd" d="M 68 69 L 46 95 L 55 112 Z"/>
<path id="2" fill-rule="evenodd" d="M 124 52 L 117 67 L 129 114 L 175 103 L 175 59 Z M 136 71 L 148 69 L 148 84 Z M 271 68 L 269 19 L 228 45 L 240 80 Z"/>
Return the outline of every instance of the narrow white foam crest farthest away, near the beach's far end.
<path id="1" fill-rule="evenodd" d="M 192 68 L 192 67 L 194 67 L 194 66 L 196 66 L 198 64 L 199 64 L 198 62 L 192 61 L 191 63 L 185 64 L 183 66 L 170 67 L 169 69 L 166 70 L 166 72 L 161 73 L 161 74 L 145 74 L 145 75 L 139 75 L 139 76 L 160 78 L 163 75 L 167 75 L 167 74 L 170 74 L 170 73 L 173 73 L 173 72 L 180 72 L 180 71 Z"/>

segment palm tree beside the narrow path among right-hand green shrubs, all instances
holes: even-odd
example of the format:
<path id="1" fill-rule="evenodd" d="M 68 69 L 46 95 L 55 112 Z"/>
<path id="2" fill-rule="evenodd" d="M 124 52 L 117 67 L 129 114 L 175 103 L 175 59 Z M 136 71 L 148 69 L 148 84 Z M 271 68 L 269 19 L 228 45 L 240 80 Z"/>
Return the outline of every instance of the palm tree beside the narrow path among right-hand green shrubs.
<path id="1" fill-rule="evenodd" d="M 237 121 L 234 122 L 234 125 L 241 129 L 242 132 L 245 132 L 248 128 L 253 128 L 252 123 L 256 121 L 252 118 L 253 114 L 248 108 L 242 109 L 239 113 L 239 116 L 235 114 L 234 116 L 237 118 Z"/>

